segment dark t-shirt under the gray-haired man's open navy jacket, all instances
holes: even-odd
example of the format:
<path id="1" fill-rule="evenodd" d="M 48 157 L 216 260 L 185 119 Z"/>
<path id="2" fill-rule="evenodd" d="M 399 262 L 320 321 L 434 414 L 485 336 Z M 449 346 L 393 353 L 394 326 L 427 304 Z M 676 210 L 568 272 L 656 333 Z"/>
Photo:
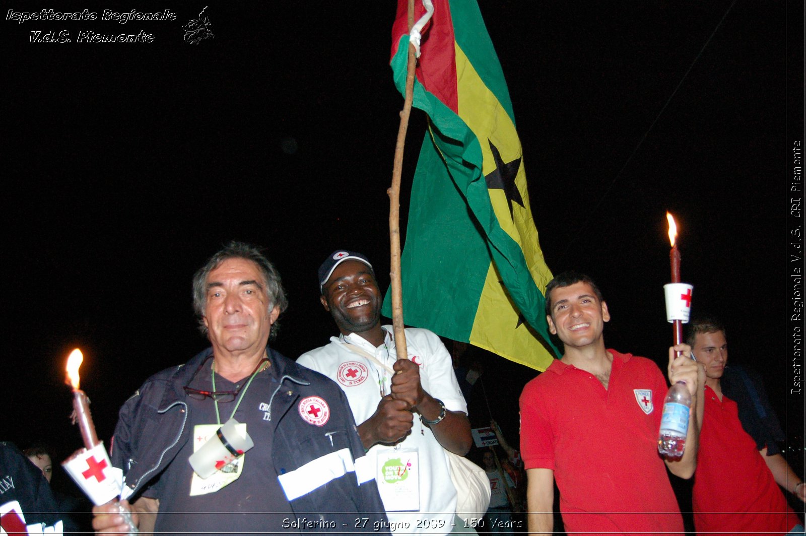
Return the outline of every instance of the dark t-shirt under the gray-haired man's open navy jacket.
<path id="1" fill-rule="evenodd" d="M 212 391 L 208 360 L 201 371 L 193 378 L 191 387 Z M 193 468 L 188 461 L 193 454 L 193 436 L 177 457 L 159 476 L 159 480 L 143 493 L 146 497 L 160 500 L 160 513 L 157 515 L 156 531 L 175 534 L 215 533 L 263 533 L 297 532 L 285 526 L 292 526 L 291 505 L 280 488 L 272 463 L 272 436 L 275 422 L 268 421 L 268 403 L 278 385 L 278 380 L 268 368 L 259 372 L 248 388 L 247 376 L 238 384 L 215 376 L 215 390 L 234 391 L 240 384 L 244 387 L 239 393 L 243 396 L 233 417 L 246 423 L 247 433 L 255 447 L 252 447 L 240 460 L 243 470 L 238 480 L 205 495 L 190 496 L 190 483 Z M 246 389 L 244 392 L 243 389 Z M 228 421 L 239 398 L 227 403 L 218 403 L 221 423 Z M 202 401 L 188 398 L 189 419 L 185 426 L 193 433 L 193 426 L 215 424 L 215 405 L 208 397 Z M 278 416 L 279 417 L 279 416 Z"/>

